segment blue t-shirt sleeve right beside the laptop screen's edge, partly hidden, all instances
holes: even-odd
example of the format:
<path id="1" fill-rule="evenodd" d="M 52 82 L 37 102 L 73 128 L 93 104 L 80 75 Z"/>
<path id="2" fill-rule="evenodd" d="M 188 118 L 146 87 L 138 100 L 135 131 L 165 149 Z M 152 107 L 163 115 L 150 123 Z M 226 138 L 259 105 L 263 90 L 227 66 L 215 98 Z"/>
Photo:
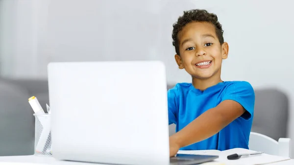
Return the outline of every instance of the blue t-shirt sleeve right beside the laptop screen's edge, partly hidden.
<path id="1" fill-rule="evenodd" d="M 168 111 L 169 111 L 169 125 L 177 122 L 177 87 L 173 87 L 168 91 Z"/>

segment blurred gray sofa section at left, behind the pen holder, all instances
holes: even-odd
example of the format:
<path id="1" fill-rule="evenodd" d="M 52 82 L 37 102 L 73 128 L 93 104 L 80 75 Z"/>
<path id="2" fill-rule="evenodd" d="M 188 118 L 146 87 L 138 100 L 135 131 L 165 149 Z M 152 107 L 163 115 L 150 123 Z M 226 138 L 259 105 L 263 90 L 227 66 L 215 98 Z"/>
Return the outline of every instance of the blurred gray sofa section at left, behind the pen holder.
<path id="1" fill-rule="evenodd" d="M 28 98 L 49 103 L 46 80 L 0 78 L 0 156 L 34 153 L 34 116 Z"/>

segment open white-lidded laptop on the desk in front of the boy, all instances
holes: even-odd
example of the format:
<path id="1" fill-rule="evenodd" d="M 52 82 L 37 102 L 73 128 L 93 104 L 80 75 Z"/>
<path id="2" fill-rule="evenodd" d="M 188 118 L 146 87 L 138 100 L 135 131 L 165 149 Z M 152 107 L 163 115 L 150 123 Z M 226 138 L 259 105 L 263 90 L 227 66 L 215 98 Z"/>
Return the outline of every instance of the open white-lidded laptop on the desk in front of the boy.
<path id="1" fill-rule="evenodd" d="M 195 165 L 218 156 L 170 159 L 167 81 L 159 61 L 48 65 L 52 156 L 119 165 Z"/>

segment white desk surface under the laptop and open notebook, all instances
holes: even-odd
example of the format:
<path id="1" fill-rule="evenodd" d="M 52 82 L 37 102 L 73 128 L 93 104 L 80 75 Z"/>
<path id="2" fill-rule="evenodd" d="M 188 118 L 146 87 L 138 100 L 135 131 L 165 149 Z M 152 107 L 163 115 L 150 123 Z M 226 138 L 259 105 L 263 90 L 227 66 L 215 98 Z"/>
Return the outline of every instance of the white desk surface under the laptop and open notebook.
<path id="1" fill-rule="evenodd" d="M 19 162 L 19 163 L 39 163 L 48 165 L 102 165 L 102 164 L 92 164 L 92 163 L 80 163 L 80 162 L 69 162 L 69 161 L 57 161 L 52 157 L 39 157 L 34 155 L 29 156 L 0 156 L 1 162 Z M 105 165 L 105 164 L 103 164 Z M 294 159 L 277 162 L 268 165 L 294 165 Z"/>

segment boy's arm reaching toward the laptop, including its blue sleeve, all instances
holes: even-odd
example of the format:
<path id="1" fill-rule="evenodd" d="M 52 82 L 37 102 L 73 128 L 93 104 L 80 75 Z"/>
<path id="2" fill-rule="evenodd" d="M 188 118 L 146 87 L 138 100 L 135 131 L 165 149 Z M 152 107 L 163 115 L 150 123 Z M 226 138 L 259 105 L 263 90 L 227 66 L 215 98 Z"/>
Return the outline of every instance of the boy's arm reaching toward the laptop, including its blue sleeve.
<path id="1" fill-rule="evenodd" d="M 181 147 L 210 138 L 240 116 L 245 120 L 251 118 L 254 103 L 254 90 L 248 82 L 230 85 L 217 107 L 207 110 L 170 137 L 170 156 Z"/>

